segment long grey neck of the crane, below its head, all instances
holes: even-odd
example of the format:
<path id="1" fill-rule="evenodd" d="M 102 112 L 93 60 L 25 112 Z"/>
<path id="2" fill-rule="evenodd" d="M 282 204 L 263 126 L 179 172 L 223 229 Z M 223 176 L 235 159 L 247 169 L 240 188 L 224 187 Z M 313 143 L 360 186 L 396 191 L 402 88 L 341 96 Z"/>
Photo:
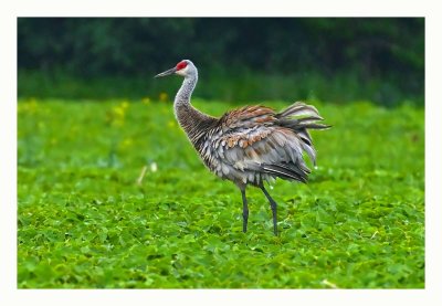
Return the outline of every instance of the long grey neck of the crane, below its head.
<path id="1" fill-rule="evenodd" d="M 190 141 L 197 147 L 198 140 L 204 135 L 206 129 L 214 120 L 190 104 L 190 97 L 198 82 L 198 73 L 187 76 L 181 88 L 175 97 L 175 116 L 179 125 L 186 131 Z"/>

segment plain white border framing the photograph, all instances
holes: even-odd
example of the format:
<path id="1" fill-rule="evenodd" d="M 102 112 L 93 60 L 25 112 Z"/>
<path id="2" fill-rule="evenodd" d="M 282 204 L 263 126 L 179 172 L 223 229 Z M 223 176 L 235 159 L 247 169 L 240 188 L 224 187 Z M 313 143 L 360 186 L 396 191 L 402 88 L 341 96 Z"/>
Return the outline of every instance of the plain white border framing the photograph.
<path id="1" fill-rule="evenodd" d="M 0 3 L 0 305 L 442 305 L 441 11 L 436 1 L 10 1 Z M 17 289 L 17 17 L 425 17 L 425 289 Z M 404 152 L 406 154 L 406 152 Z"/>

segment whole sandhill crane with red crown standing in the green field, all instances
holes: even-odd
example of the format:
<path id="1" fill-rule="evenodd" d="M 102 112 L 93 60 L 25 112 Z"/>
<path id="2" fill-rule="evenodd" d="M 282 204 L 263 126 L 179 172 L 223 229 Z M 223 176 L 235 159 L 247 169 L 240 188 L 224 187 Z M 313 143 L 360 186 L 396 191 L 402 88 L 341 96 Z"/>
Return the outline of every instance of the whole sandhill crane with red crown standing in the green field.
<path id="1" fill-rule="evenodd" d="M 273 232 L 277 235 L 276 202 L 264 188 L 264 181 L 276 178 L 307 181 L 303 151 L 313 163 L 316 151 L 308 128 L 325 129 L 314 106 L 296 102 L 281 113 L 265 106 L 245 106 L 220 118 L 201 113 L 190 104 L 198 82 L 198 70 L 189 60 L 155 77 L 177 74 L 185 77 L 173 103 L 175 116 L 210 171 L 234 182 L 243 202 L 243 232 L 248 230 L 248 184 L 260 188 L 273 214 Z"/>

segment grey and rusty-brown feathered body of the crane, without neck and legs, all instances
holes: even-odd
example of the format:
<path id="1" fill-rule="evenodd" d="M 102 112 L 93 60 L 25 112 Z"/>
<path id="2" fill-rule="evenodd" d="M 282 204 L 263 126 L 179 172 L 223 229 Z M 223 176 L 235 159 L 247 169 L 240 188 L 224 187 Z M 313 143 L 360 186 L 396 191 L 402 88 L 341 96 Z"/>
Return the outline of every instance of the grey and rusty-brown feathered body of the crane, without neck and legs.
<path id="1" fill-rule="evenodd" d="M 206 166 L 239 187 L 260 186 L 278 177 L 306 182 L 316 151 L 308 129 L 329 126 L 315 107 L 297 102 L 281 113 L 265 106 L 246 106 L 210 120 L 204 133 L 191 138 Z"/>

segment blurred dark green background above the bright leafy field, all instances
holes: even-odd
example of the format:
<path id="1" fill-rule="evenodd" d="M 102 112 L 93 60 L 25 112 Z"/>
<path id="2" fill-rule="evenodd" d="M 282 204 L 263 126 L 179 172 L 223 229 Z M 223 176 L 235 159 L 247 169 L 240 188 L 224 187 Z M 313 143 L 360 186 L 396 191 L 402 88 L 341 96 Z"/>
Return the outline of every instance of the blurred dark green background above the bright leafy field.
<path id="1" fill-rule="evenodd" d="M 423 18 L 20 18 L 18 49 L 19 97 L 155 98 L 189 59 L 204 99 L 423 105 Z"/>

